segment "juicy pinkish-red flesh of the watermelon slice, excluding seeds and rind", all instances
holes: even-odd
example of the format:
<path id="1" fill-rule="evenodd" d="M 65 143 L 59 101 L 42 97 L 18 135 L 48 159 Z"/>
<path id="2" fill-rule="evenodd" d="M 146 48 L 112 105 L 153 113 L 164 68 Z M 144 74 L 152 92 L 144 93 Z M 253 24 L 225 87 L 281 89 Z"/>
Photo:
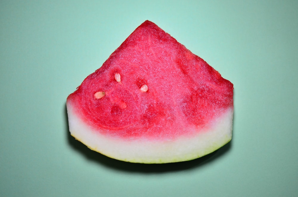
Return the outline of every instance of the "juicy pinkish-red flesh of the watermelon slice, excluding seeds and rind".
<path id="1" fill-rule="evenodd" d="M 116 73 L 121 82 L 115 80 Z M 140 91 L 144 84 L 147 92 Z M 99 91 L 105 95 L 94 98 Z M 233 109 L 233 84 L 145 21 L 67 102 L 101 135 L 170 140 L 208 132 L 218 117 Z"/>

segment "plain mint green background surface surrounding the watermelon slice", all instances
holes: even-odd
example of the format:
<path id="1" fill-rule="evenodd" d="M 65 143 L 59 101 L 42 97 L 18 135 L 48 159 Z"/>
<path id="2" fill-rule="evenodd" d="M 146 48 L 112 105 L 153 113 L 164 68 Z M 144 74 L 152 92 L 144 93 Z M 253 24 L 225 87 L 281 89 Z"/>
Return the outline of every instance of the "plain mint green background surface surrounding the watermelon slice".
<path id="1" fill-rule="evenodd" d="M 298 1 L 0 1 L 0 196 L 297 196 Z M 68 132 L 66 97 L 143 21 L 235 87 L 232 141 L 144 165 Z"/>

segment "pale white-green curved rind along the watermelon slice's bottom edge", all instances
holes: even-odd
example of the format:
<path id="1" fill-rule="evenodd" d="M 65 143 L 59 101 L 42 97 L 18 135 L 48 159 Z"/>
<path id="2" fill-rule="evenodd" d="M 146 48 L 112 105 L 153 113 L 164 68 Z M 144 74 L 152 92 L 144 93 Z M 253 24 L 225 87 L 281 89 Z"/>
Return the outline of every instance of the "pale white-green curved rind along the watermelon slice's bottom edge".
<path id="1" fill-rule="evenodd" d="M 67 102 L 69 130 L 73 137 L 108 157 L 135 163 L 170 163 L 192 160 L 224 146 L 232 138 L 233 108 L 218 117 L 207 131 L 172 141 L 120 140 L 101 135 L 84 123 Z"/>

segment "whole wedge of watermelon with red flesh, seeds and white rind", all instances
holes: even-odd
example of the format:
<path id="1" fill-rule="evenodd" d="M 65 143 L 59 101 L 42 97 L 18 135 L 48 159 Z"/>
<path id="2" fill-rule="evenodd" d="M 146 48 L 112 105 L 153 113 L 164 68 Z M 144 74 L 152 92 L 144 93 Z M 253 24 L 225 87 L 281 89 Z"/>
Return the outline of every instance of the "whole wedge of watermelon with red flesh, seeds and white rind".
<path id="1" fill-rule="evenodd" d="M 232 137 L 233 84 L 145 21 L 66 102 L 71 135 L 137 163 L 192 160 Z"/>

